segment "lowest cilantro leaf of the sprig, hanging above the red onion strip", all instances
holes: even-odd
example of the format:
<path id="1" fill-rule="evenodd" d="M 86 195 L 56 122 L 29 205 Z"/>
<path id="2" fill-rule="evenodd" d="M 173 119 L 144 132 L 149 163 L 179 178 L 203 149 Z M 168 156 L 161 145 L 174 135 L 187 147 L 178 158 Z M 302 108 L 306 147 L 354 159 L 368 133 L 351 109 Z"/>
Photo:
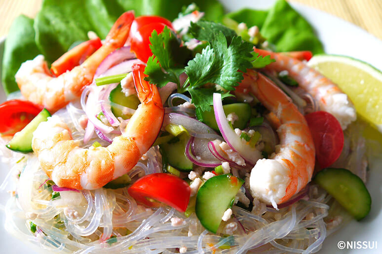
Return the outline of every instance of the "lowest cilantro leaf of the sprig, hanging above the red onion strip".
<path id="1" fill-rule="evenodd" d="M 223 93 L 222 91 L 216 91 L 215 88 L 195 88 L 189 87 L 187 90 L 191 95 L 191 102 L 202 111 L 211 111 L 211 105 L 213 105 L 213 94 L 222 93 L 222 99 L 225 97 L 233 96 L 229 93 Z"/>

